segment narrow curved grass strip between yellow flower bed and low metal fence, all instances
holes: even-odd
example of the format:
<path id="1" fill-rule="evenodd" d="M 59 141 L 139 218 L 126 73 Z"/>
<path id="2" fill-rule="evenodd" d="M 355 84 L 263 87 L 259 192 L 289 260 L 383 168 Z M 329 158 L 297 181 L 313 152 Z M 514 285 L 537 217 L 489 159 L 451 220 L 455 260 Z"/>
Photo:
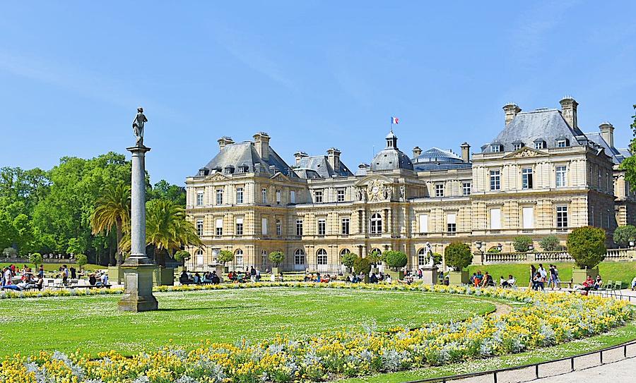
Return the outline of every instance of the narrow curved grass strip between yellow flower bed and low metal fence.
<path id="1" fill-rule="evenodd" d="M 341 379 L 338 383 L 400 383 L 418 379 L 430 379 L 433 377 L 444 377 L 449 375 L 467 374 L 469 372 L 482 372 L 497 370 L 499 368 L 528 365 L 531 363 L 555 360 L 567 356 L 596 351 L 601 348 L 615 346 L 636 339 L 636 322 L 630 322 L 624 327 L 613 329 L 605 334 L 591 336 L 586 339 L 579 339 L 558 346 L 541 348 L 526 353 L 514 355 L 504 355 L 496 358 L 481 360 L 471 360 L 464 363 L 454 363 L 441 367 L 428 367 L 419 370 L 409 370 L 401 372 L 391 372 L 379 374 L 371 377 Z M 482 382 L 484 379 L 475 378 L 475 382 Z M 558 382 L 558 377 L 555 382 Z"/>

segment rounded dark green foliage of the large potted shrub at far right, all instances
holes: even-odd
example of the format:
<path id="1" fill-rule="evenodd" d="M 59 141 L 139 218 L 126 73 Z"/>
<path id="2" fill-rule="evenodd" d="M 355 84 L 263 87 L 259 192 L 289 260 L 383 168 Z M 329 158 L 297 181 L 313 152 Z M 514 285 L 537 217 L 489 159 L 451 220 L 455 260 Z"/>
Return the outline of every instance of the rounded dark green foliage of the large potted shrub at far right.
<path id="1" fill-rule="evenodd" d="M 603 229 L 584 226 L 567 236 L 567 250 L 580 269 L 591 269 L 605 259 L 606 235 Z"/>

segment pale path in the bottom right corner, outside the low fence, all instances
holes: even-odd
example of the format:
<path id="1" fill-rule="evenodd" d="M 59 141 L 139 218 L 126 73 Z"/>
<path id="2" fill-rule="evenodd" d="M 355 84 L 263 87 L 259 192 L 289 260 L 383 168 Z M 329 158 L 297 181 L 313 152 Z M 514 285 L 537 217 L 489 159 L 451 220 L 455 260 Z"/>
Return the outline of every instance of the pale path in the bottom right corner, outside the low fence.
<path id="1" fill-rule="evenodd" d="M 605 379 L 599 379 L 605 378 Z M 636 358 L 591 367 L 587 370 L 570 372 L 565 375 L 546 377 L 532 383 L 581 383 L 581 382 L 634 383 L 636 381 Z"/>

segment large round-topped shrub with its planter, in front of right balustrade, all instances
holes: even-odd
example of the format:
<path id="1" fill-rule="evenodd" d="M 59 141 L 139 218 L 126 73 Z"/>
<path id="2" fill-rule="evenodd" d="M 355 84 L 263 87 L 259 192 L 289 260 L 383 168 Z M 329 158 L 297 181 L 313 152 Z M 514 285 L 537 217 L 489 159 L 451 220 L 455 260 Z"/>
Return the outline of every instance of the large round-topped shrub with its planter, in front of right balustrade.
<path id="1" fill-rule="evenodd" d="M 605 231 L 593 226 L 579 227 L 567 236 L 567 250 L 576 264 L 572 269 L 573 283 L 582 284 L 588 275 L 593 279 L 599 275 L 599 263 L 607 252 L 605 242 Z"/>

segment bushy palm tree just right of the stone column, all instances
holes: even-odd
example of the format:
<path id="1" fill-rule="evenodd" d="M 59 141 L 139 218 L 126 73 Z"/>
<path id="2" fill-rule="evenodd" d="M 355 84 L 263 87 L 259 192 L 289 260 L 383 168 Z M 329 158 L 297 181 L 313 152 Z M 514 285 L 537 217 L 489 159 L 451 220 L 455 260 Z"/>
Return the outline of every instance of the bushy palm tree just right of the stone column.
<path id="1" fill-rule="evenodd" d="M 129 234 L 129 228 L 126 233 Z M 200 246 L 192 222 L 186 221 L 183 207 L 169 200 L 151 200 L 146 204 L 146 243 L 155 248 L 155 260 L 165 265 L 165 256 L 185 246 Z M 122 248 L 130 248 L 130 235 L 122 240 Z"/>

